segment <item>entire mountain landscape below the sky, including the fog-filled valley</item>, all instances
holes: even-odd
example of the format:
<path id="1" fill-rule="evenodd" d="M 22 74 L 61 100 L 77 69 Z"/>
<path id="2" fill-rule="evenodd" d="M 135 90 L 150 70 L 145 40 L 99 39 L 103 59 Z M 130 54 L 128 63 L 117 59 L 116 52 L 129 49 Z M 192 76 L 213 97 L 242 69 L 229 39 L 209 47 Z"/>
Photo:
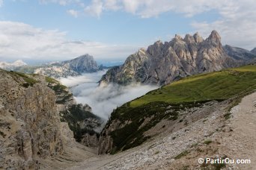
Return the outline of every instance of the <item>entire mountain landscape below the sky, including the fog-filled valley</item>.
<path id="1" fill-rule="evenodd" d="M 255 57 L 212 31 L 157 41 L 121 66 L 98 66 L 89 54 L 4 63 L 0 168 L 252 169 Z"/>

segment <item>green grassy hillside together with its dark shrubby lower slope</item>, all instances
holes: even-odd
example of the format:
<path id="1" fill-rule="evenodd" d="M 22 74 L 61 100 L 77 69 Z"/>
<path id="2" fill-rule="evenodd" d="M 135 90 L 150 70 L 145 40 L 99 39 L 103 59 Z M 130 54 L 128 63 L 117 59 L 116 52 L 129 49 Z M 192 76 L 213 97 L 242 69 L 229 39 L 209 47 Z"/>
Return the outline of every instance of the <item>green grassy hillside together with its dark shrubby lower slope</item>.
<path id="1" fill-rule="evenodd" d="M 109 135 L 113 139 L 110 152 L 115 154 L 141 145 L 150 138 L 144 136 L 144 132 L 162 119 L 177 122 L 181 119 L 181 110 L 201 107 L 207 101 L 223 101 L 254 89 L 256 65 L 194 75 L 148 92 L 112 112 L 105 127 L 105 130 L 110 130 Z M 145 123 L 146 119 L 150 121 Z M 120 128 L 113 130 L 112 122 L 121 122 Z M 106 136 L 105 130 L 102 136 Z"/>

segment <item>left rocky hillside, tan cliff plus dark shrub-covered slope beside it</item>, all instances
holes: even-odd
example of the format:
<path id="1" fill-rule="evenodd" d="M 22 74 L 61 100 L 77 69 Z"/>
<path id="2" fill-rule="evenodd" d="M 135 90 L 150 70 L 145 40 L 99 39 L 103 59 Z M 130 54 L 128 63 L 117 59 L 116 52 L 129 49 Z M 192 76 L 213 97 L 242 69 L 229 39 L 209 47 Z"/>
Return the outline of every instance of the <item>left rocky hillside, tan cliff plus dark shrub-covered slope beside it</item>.
<path id="1" fill-rule="evenodd" d="M 55 79 L 0 69 L 0 94 L 0 169 L 68 167 L 94 152 L 74 136 L 96 147 L 101 120 Z"/>

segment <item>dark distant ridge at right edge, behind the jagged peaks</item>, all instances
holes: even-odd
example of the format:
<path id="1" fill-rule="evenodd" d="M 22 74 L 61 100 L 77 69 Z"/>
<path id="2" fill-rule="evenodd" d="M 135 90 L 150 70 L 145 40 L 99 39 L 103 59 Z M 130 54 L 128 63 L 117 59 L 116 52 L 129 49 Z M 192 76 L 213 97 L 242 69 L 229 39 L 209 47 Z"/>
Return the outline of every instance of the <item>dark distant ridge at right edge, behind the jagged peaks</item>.
<path id="1" fill-rule="evenodd" d="M 234 59 L 236 60 L 250 61 L 255 59 L 256 57 L 256 53 L 254 54 L 252 51 L 249 51 L 243 48 L 232 47 L 231 45 L 225 45 L 223 48 L 229 56 L 234 57 Z"/>

